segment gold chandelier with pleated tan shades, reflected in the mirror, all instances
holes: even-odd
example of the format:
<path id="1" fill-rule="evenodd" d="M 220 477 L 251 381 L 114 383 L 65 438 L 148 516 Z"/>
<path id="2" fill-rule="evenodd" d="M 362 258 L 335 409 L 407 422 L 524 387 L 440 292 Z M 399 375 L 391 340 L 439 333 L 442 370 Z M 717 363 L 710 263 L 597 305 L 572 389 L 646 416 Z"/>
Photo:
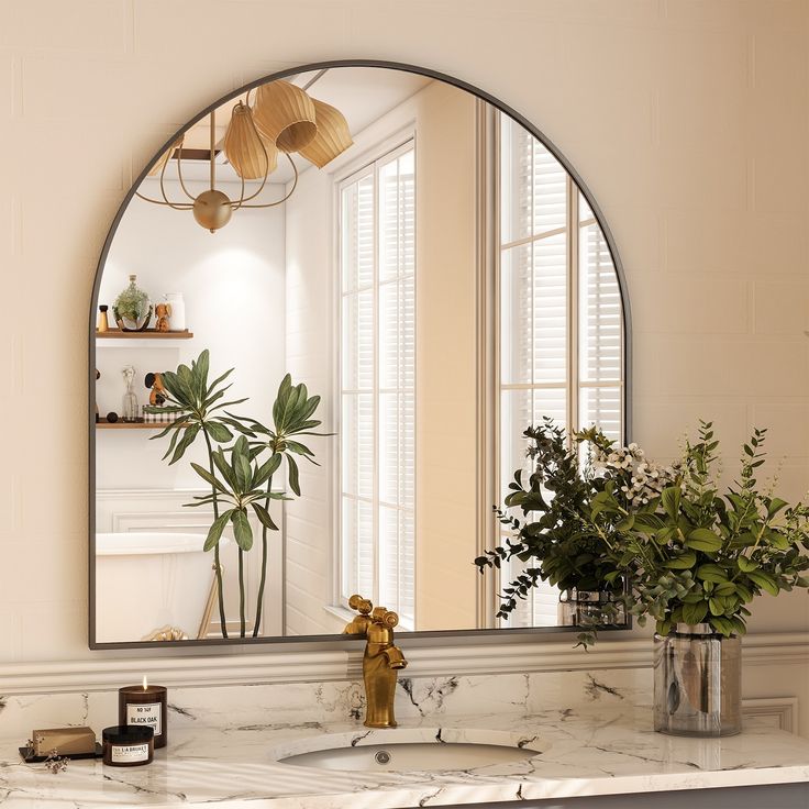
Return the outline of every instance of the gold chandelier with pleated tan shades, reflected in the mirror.
<path id="1" fill-rule="evenodd" d="M 307 86 L 311 86 L 324 71 Z M 250 99 L 250 93 L 248 93 Z M 273 208 L 288 200 L 298 185 L 298 168 L 291 153 L 323 168 L 353 143 L 348 124 L 343 114 L 322 101 L 311 98 L 306 90 L 289 81 L 270 81 L 256 91 L 255 103 L 239 101 L 222 141 L 228 162 L 241 180 L 237 200 L 217 188 L 217 126 L 215 111 L 210 114 L 210 187 L 196 197 L 186 187 L 182 177 L 184 137 L 179 137 L 151 168 L 148 176 L 159 175 L 162 199 L 152 199 L 136 191 L 146 202 L 167 206 L 178 211 L 192 211 L 195 220 L 211 233 L 230 222 L 240 208 Z M 289 191 L 274 202 L 253 202 L 264 190 L 267 178 L 276 170 L 278 153 L 289 160 L 295 179 Z M 177 179 L 187 199 L 168 198 L 165 186 L 166 168 L 173 156 L 177 157 Z M 258 189 L 245 196 L 245 180 L 261 180 Z"/>

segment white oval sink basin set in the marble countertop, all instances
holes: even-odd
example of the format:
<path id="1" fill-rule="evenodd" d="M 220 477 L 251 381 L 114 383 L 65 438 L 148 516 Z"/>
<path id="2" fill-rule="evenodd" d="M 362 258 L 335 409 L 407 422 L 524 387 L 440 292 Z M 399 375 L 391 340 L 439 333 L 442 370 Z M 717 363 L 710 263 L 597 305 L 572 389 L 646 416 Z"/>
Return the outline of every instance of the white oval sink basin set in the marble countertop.
<path id="1" fill-rule="evenodd" d="M 452 772 L 525 761 L 546 746 L 502 731 L 418 728 L 312 736 L 276 751 L 275 757 L 319 769 Z"/>

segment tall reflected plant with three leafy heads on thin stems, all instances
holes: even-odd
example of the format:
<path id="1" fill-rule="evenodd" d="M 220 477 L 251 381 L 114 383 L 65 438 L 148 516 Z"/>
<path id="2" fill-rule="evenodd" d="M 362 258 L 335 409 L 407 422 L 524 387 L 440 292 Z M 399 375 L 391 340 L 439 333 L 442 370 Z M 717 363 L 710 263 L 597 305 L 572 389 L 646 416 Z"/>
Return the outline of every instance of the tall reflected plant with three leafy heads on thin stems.
<path id="1" fill-rule="evenodd" d="M 320 397 L 310 397 L 306 385 L 292 385 L 291 377 L 287 374 L 278 388 L 273 407 L 275 429 L 270 429 L 253 417 L 236 415 L 226 410 L 247 400 L 222 401 L 231 387 L 224 383 L 233 373 L 233 368 L 209 384 L 209 366 L 210 355 L 206 350 L 197 361 L 191 362 L 190 367 L 180 365 L 176 373 L 164 373 L 163 384 L 166 388 L 167 403 L 147 410 L 174 415 L 171 423 L 154 436 L 162 439 L 171 435 L 163 456 L 164 461 L 168 459 L 169 465 L 180 461 L 199 435 L 203 436 L 208 468 L 196 463 L 191 466 L 210 485 L 211 491 L 196 497 L 196 502 L 188 505 L 210 506 L 213 511 L 213 521 L 203 548 L 212 550 L 214 555 L 223 638 L 228 638 L 220 562 L 220 542 L 223 532 L 230 523 L 239 552 L 240 636 L 244 638 L 246 635 L 244 554 L 253 547 L 250 514 L 255 514 L 262 525 L 262 576 L 253 628 L 255 638 L 261 628 L 267 576 L 267 532 L 278 530 L 269 514 L 269 502 L 274 499 L 289 499 L 284 494 L 273 491 L 273 476 L 286 458 L 290 488 L 300 497 L 299 469 L 291 455 L 297 454 L 311 463 L 317 462 L 311 450 L 291 440 L 290 436 L 319 434 L 312 430 L 321 422 L 311 417 L 320 403 Z M 235 441 L 234 431 L 239 433 Z M 228 444 L 230 446 L 225 446 Z"/>

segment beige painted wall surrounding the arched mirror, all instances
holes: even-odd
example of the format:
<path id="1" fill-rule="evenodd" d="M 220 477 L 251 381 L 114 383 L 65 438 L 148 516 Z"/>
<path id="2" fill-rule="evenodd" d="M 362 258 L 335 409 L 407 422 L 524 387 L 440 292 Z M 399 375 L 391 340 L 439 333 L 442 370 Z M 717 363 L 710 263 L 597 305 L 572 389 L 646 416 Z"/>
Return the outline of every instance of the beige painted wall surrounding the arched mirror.
<path id="1" fill-rule="evenodd" d="M 297 63 L 420 64 L 533 120 L 587 180 L 627 269 L 635 437 L 671 455 L 686 424 L 713 418 L 730 461 L 766 424 L 783 487 L 807 488 L 806 2 L 3 0 L 1 11 L 0 661 L 91 655 L 87 303 L 115 209 L 191 114 Z M 762 599 L 752 621 L 808 628 L 806 594 Z"/>

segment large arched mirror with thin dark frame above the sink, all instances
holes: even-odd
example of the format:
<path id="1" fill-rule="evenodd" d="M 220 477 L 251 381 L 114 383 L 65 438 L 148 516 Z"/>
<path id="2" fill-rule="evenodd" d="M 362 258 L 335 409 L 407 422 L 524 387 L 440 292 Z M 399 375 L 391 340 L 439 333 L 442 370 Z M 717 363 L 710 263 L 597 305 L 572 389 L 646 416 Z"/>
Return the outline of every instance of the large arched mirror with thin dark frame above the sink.
<path id="1" fill-rule="evenodd" d="M 90 643 L 334 638 L 497 618 L 523 430 L 627 437 L 628 309 L 595 201 L 541 133 L 386 64 L 269 77 L 148 166 L 90 335 Z"/>

